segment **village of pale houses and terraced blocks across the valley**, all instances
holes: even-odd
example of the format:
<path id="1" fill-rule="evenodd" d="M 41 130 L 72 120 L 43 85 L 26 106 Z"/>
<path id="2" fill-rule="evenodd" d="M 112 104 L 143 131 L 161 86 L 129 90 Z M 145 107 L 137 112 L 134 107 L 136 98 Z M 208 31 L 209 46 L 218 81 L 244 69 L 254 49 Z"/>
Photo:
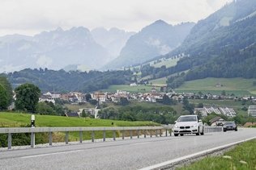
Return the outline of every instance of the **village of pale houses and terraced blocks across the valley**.
<path id="1" fill-rule="evenodd" d="M 162 102 L 164 95 L 168 96 L 173 103 L 183 102 L 183 99 L 203 99 L 203 100 L 230 100 L 230 101 L 250 101 L 256 104 L 256 97 L 244 96 L 236 97 L 235 95 L 215 95 L 211 93 L 164 93 L 158 92 L 155 87 L 151 88 L 150 92 L 145 93 L 130 93 L 124 90 L 119 90 L 115 93 L 110 92 L 95 92 L 95 93 L 80 93 L 80 92 L 70 92 L 70 93 L 43 93 L 39 99 L 39 102 L 52 102 L 55 104 L 56 100 L 62 100 L 69 102 L 72 105 L 81 105 L 90 101 L 94 101 L 95 108 L 81 108 L 77 112 L 66 113 L 66 116 L 69 117 L 81 117 L 82 112 L 85 111 L 89 114 L 92 114 L 94 118 L 97 118 L 97 113 L 100 110 L 99 105 L 106 102 L 118 103 L 121 101 L 121 98 L 125 98 L 127 101 L 134 102 Z M 250 110 L 249 110 L 250 111 Z M 224 114 L 228 118 L 233 118 L 237 115 L 236 111 L 233 108 L 228 106 L 203 106 L 200 108 L 194 108 L 194 114 L 200 114 L 203 117 L 206 117 L 208 114 L 214 112 L 215 114 Z M 254 113 L 249 113 L 254 115 Z M 255 115 L 256 116 L 256 115 Z"/>

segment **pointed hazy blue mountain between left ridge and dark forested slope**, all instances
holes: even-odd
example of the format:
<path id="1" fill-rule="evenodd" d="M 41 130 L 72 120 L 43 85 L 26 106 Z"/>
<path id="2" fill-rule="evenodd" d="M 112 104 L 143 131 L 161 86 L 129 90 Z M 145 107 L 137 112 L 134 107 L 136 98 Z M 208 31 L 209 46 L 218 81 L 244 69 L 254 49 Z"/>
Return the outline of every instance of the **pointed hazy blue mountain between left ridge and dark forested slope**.
<path id="1" fill-rule="evenodd" d="M 177 48 L 189 34 L 194 23 L 169 25 L 158 20 L 144 27 L 137 34 L 130 36 L 120 56 L 104 68 L 121 68 L 140 64 L 156 56 L 164 55 Z"/>

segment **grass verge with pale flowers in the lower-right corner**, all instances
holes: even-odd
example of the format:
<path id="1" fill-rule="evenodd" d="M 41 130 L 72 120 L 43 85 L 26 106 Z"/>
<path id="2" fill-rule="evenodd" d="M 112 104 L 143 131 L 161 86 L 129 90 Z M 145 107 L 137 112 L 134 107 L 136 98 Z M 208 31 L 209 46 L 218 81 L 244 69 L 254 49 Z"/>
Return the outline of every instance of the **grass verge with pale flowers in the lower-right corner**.
<path id="1" fill-rule="evenodd" d="M 223 156 L 209 156 L 179 170 L 256 169 L 256 139 L 239 144 Z"/>

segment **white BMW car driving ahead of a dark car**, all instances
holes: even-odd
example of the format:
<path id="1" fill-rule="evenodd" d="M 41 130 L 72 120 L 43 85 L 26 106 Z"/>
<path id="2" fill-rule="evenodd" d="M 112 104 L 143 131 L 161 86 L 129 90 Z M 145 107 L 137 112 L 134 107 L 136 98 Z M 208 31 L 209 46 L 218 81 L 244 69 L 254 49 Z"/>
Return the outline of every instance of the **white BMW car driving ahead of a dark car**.
<path id="1" fill-rule="evenodd" d="M 198 119 L 197 115 L 182 115 L 175 121 L 173 133 L 175 136 L 184 134 L 203 135 L 203 122 Z"/>

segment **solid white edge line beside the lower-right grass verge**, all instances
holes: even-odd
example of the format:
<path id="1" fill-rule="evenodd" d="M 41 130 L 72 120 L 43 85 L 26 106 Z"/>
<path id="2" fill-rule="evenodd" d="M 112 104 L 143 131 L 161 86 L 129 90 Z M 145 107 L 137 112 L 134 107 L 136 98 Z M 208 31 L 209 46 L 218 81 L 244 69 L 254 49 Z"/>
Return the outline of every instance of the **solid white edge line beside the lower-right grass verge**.
<path id="1" fill-rule="evenodd" d="M 205 151 L 198 151 L 197 153 L 194 153 L 194 154 L 191 154 L 191 155 L 182 156 L 182 157 L 179 157 L 177 159 L 169 160 L 169 161 L 166 161 L 166 162 L 163 162 L 163 163 L 160 163 L 160 164 L 154 164 L 154 165 L 151 165 L 151 166 L 146 167 L 146 168 L 141 168 L 139 170 L 151 170 L 151 169 L 166 168 L 168 165 L 174 165 L 174 164 L 177 164 L 177 163 L 179 163 L 183 160 L 189 160 L 191 158 L 196 158 L 196 157 L 200 157 L 200 156 L 203 156 L 203 155 L 211 154 L 212 152 L 220 151 L 224 148 L 232 147 L 234 145 L 237 145 L 239 143 L 244 143 L 244 142 L 246 142 L 248 140 L 251 140 L 251 139 L 256 139 L 256 136 L 254 136 L 253 138 L 244 139 L 244 140 L 241 140 L 241 141 L 238 141 L 238 142 L 235 142 L 235 143 L 225 144 L 225 145 L 222 145 L 220 147 L 214 147 L 214 148 L 211 148 L 211 149 L 207 149 Z"/>

